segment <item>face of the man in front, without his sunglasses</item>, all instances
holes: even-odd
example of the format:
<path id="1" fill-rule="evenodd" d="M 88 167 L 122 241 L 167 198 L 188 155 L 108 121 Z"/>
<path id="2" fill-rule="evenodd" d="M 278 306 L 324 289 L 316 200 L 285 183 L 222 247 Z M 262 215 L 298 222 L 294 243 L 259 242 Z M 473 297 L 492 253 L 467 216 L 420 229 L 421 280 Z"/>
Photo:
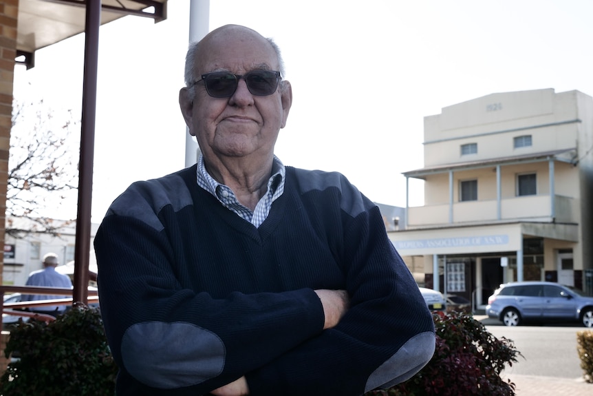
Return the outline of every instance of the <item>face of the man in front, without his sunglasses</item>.
<path id="1" fill-rule="evenodd" d="M 268 41 L 241 28 L 218 31 L 202 41 L 195 66 L 195 80 L 210 72 L 243 75 L 253 70 L 279 70 L 277 55 Z M 228 98 L 209 96 L 204 81 L 195 84 L 193 98 L 182 89 L 184 118 L 206 160 L 270 158 L 292 102 L 290 83 L 283 83 L 288 85 L 286 90 L 279 85 L 268 96 L 251 94 L 244 79 L 239 79 L 235 94 Z"/>

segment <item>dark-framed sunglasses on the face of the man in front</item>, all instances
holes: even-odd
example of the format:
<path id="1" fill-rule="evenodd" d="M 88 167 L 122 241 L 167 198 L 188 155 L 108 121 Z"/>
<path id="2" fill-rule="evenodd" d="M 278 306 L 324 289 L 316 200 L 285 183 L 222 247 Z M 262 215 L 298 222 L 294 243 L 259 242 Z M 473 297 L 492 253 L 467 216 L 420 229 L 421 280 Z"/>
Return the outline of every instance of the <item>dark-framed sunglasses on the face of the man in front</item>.
<path id="1" fill-rule="evenodd" d="M 235 94 L 239 79 L 244 79 L 247 89 L 252 95 L 266 96 L 276 92 L 280 81 L 280 72 L 272 70 L 253 70 L 240 75 L 231 72 L 212 72 L 202 74 L 202 79 L 194 84 L 204 81 L 206 92 L 213 98 L 228 98 Z"/>

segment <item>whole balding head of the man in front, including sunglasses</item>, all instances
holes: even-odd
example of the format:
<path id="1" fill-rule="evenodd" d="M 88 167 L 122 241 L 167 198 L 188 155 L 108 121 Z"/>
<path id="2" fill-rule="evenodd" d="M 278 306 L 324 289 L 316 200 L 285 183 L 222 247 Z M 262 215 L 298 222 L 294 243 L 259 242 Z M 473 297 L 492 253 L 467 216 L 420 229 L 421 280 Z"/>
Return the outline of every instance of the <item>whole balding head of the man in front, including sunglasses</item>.
<path id="1" fill-rule="evenodd" d="M 179 103 L 206 167 L 219 169 L 220 183 L 230 168 L 243 175 L 233 180 L 271 171 L 274 144 L 292 104 L 272 41 L 244 26 L 226 25 L 193 43 Z"/>

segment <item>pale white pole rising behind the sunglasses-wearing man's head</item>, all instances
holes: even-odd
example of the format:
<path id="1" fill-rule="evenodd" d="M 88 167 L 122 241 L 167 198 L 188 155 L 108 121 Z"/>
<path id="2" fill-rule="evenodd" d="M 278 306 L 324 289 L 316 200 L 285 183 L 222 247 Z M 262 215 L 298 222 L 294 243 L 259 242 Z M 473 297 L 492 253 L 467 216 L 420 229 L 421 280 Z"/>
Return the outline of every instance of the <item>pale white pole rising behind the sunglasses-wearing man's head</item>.
<path id="1" fill-rule="evenodd" d="M 202 37 L 206 36 L 210 29 L 209 24 L 210 0 L 190 0 L 189 43 L 200 41 Z M 195 137 L 187 132 L 185 138 L 185 166 L 191 167 L 191 165 L 195 164 L 198 156 L 200 156 L 200 147 L 198 147 Z"/>

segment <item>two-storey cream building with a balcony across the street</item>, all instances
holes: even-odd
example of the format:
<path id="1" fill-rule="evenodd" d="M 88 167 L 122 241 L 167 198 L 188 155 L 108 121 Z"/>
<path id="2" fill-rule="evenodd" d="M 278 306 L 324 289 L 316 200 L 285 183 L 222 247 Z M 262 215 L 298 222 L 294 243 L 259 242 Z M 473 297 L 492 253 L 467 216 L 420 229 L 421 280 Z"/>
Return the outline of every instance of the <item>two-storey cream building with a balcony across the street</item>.
<path id="1" fill-rule="evenodd" d="M 490 94 L 424 118 L 424 206 L 389 232 L 426 286 L 476 308 L 513 280 L 593 292 L 593 98 Z M 416 270 L 417 271 L 417 270 Z M 435 274 L 438 273 L 438 276 Z"/>

